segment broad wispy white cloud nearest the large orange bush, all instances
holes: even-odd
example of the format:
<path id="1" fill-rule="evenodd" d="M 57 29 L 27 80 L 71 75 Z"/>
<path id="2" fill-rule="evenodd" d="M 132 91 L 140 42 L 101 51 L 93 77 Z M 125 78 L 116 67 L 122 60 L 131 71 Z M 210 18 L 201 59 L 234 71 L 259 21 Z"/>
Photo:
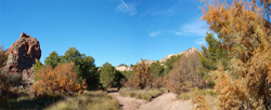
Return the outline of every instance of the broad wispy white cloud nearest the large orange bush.
<path id="1" fill-rule="evenodd" d="M 175 31 L 175 35 L 205 37 L 207 31 L 207 24 L 203 20 L 197 19 L 192 23 L 182 25 L 180 29 Z"/>

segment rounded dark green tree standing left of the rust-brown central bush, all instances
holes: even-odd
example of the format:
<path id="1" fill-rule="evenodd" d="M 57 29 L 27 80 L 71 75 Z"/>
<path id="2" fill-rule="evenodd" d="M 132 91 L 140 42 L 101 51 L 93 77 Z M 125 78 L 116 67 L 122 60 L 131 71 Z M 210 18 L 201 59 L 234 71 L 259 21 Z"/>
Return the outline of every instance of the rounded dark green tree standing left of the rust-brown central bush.
<path id="1" fill-rule="evenodd" d="M 118 72 L 109 63 L 105 63 L 103 67 L 101 67 L 99 74 L 100 82 L 103 87 L 108 88 L 117 84 L 117 82 L 115 82 L 115 77 L 118 74 Z"/>

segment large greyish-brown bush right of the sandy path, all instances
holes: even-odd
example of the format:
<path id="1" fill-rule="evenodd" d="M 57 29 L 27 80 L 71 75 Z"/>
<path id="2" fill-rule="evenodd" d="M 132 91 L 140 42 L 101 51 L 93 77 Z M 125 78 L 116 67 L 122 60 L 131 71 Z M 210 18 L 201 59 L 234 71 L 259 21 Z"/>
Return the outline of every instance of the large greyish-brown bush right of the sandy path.
<path id="1" fill-rule="evenodd" d="M 198 68 L 202 67 L 198 54 L 195 52 L 189 56 L 180 56 L 168 75 L 165 77 L 167 88 L 173 93 L 180 93 L 192 87 L 202 88 L 204 86 L 204 78 L 198 72 Z"/>

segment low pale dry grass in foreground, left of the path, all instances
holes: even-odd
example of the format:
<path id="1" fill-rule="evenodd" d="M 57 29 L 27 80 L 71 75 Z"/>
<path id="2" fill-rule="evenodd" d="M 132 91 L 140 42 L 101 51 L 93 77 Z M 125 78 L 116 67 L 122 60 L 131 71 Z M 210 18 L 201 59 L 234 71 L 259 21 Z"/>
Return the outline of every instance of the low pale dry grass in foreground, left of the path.
<path id="1" fill-rule="evenodd" d="M 57 101 L 46 110 L 119 110 L 119 105 L 117 99 L 106 92 L 87 91 L 81 95 Z"/>

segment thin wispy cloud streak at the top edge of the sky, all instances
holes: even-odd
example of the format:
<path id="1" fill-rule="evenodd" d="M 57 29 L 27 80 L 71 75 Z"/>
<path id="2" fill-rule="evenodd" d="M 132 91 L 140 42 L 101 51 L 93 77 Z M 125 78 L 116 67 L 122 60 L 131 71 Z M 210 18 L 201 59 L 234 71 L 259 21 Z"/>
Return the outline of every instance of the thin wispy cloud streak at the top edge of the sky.
<path id="1" fill-rule="evenodd" d="M 136 15 L 137 11 L 137 3 L 134 2 L 125 2 L 121 0 L 121 3 L 118 4 L 117 10 L 121 13 L 129 14 L 130 16 Z"/>

